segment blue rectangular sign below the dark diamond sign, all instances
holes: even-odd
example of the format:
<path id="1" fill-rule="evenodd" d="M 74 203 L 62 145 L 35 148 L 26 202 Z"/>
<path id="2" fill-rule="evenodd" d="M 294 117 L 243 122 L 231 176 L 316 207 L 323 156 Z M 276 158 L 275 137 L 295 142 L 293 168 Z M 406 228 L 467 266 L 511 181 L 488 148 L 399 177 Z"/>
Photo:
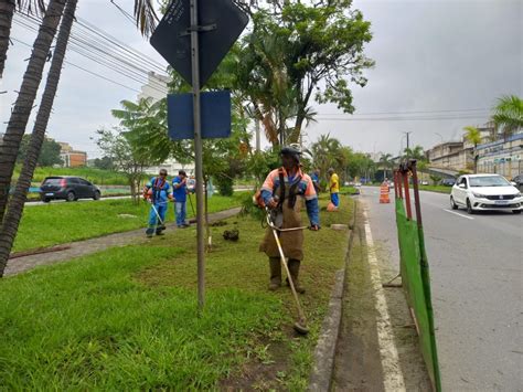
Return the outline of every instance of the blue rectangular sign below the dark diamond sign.
<path id="1" fill-rule="evenodd" d="M 201 94 L 202 138 L 231 136 L 231 92 Z M 192 94 L 170 94 L 167 97 L 167 123 L 172 140 L 194 139 Z"/>

